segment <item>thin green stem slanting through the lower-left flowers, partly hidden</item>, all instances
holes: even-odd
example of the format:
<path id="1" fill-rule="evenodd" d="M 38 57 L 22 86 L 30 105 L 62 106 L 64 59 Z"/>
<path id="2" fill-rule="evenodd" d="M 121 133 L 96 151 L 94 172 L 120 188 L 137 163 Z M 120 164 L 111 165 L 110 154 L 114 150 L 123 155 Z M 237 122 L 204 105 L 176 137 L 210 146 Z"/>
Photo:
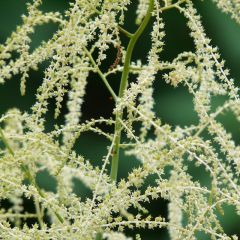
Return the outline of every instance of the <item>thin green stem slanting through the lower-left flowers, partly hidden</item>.
<path id="1" fill-rule="evenodd" d="M 7 148 L 7 150 L 9 151 L 9 153 L 14 156 L 14 151 L 11 148 L 10 144 L 8 143 L 3 130 L 0 128 L 0 138 L 2 139 L 3 144 L 5 145 L 5 147 Z M 45 198 L 44 193 L 42 192 L 42 190 L 39 188 L 39 186 L 37 185 L 35 178 L 32 176 L 28 166 L 21 164 L 21 169 L 23 170 L 23 172 L 26 174 L 27 179 L 29 180 L 30 184 L 32 184 L 38 191 L 38 194 L 42 197 Z M 57 212 L 54 212 L 54 214 L 56 215 L 57 219 L 63 223 L 63 218 L 60 216 L 60 214 L 58 214 Z M 41 223 L 39 223 L 41 225 Z"/>

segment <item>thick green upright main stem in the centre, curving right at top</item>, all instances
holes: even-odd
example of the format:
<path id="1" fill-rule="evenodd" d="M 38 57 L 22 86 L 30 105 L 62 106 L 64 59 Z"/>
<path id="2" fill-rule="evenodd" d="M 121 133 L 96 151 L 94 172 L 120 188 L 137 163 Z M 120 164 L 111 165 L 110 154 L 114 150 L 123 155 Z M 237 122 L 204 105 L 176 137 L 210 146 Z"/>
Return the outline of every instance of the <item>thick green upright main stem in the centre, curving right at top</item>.
<path id="1" fill-rule="evenodd" d="M 130 63 L 131 63 L 131 58 L 132 58 L 132 52 L 135 47 L 135 44 L 139 37 L 142 35 L 144 29 L 146 28 L 150 18 L 151 18 L 151 13 L 154 8 L 154 0 L 149 0 L 149 6 L 148 10 L 146 13 L 146 16 L 137 29 L 137 31 L 131 35 L 130 41 L 127 47 L 126 51 L 126 57 L 125 57 L 125 62 L 124 62 L 124 67 L 123 67 L 123 72 L 122 72 L 122 77 L 121 77 L 121 83 L 120 83 L 120 89 L 118 93 L 118 97 L 122 98 L 124 91 L 127 88 L 128 85 L 128 76 L 129 76 L 129 71 L 130 71 Z M 118 162 L 119 162 L 119 147 L 120 147 L 120 142 L 121 142 L 121 120 L 122 120 L 123 112 L 117 112 L 116 113 L 116 121 L 115 121 L 115 142 L 114 142 L 114 147 L 113 147 L 113 157 L 112 157 L 112 165 L 111 165 L 111 173 L 110 177 L 112 181 L 117 181 L 117 173 L 118 173 Z"/>

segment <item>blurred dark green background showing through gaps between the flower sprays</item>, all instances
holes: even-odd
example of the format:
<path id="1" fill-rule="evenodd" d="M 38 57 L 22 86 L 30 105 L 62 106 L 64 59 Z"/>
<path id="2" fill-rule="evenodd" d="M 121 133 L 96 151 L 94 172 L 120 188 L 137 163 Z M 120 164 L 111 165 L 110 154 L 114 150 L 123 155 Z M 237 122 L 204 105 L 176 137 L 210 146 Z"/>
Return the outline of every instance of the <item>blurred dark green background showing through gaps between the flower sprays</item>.
<path id="1" fill-rule="evenodd" d="M 16 29 L 16 26 L 21 23 L 21 15 L 26 11 L 25 0 L 2 0 L 0 5 L 0 43 L 4 43 L 6 38 L 10 36 L 11 32 Z M 67 0 L 44 0 L 42 9 L 44 11 L 64 12 L 64 9 L 68 6 Z M 136 1 L 131 4 L 127 12 L 127 24 L 125 26 L 129 31 L 134 31 L 136 26 L 133 19 L 136 9 Z M 199 13 L 202 15 L 202 21 L 206 29 L 206 33 L 210 39 L 212 39 L 212 45 L 219 47 L 219 52 L 226 60 L 226 66 L 231 70 L 231 76 L 235 79 L 236 84 L 239 86 L 240 81 L 240 26 L 230 19 L 229 16 L 220 12 L 219 9 L 210 1 L 194 1 Z M 189 37 L 189 30 L 186 26 L 185 18 L 179 14 L 177 10 L 171 10 L 163 14 L 165 29 L 166 29 L 166 46 L 162 52 L 163 60 L 172 60 L 177 54 L 183 51 L 193 50 L 193 42 Z M 41 41 L 48 40 L 54 31 L 56 31 L 57 25 L 47 24 L 36 28 L 35 33 L 32 35 L 32 49 L 37 47 Z M 142 59 L 146 62 L 146 53 L 150 48 L 150 28 L 144 32 L 144 35 L 140 38 L 137 47 L 134 50 L 134 59 Z M 126 39 L 123 37 L 122 41 L 127 44 Z M 111 49 L 109 52 L 107 61 L 104 62 L 103 68 L 108 68 L 116 56 L 116 50 Z M 35 93 L 38 86 L 43 79 L 43 70 L 46 65 L 42 64 L 38 72 L 31 72 L 30 79 L 27 82 L 27 91 L 25 96 L 20 95 L 20 82 L 19 76 L 15 76 L 13 79 L 6 82 L 5 85 L 0 85 L 0 114 L 4 113 L 9 108 L 17 107 L 22 111 L 29 111 L 30 107 L 35 101 Z M 119 76 L 113 75 L 109 81 L 113 88 L 117 91 L 119 86 Z M 155 109 L 158 116 L 164 123 L 170 125 L 190 125 L 197 122 L 197 115 L 193 110 L 192 97 L 187 93 L 187 90 L 183 87 L 172 88 L 165 84 L 161 75 L 157 76 L 155 83 Z M 219 105 L 223 101 L 222 98 L 214 99 L 214 104 Z M 82 120 L 90 118 L 110 117 L 112 108 L 114 106 L 113 101 L 109 98 L 109 94 L 105 89 L 102 82 L 98 79 L 97 75 L 91 74 L 88 79 L 87 95 L 83 105 L 83 117 Z M 47 115 L 48 126 L 51 128 L 55 123 L 53 121 L 53 109 L 54 102 L 50 104 L 50 111 Z M 64 113 L 66 108 L 63 108 L 63 112 L 58 120 L 58 123 L 63 123 Z M 229 132 L 234 136 L 234 139 L 239 143 L 239 124 L 232 116 L 225 115 L 222 117 L 223 122 Z M 106 147 L 108 142 L 102 137 L 94 134 L 85 133 L 81 135 L 81 138 L 76 143 L 76 150 L 90 159 L 94 164 L 100 164 L 101 157 L 106 153 Z M 136 159 L 126 157 L 121 153 L 120 172 L 119 178 L 126 176 L 129 169 L 137 166 L 139 163 Z M 201 182 L 206 182 L 206 176 L 201 174 L 200 168 L 194 168 L 190 166 L 196 179 Z M 42 173 L 38 176 L 38 181 L 41 187 L 46 190 L 53 191 L 55 188 L 55 182 L 52 178 L 48 177 L 46 173 Z M 153 181 L 153 179 L 149 179 Z M 89 196 L 89 190 L 80 182 L 76 181 L 76 193 L 81 197 Z M 30 202 L 25 202 L 26 208 L 32 210 Z M 146 205 L 149 211 L 161 214 L 167 217 L 167 202 L 164 200 L 157 200 Z M 240 218 L 234 213 L 234 209 L 230 207 L 225 208 L 225 216 L 219 216 L 223 222 L 224 229 L 228 234 L 238 234 L 240 236 L 240 229 L 238 225 Z M 140 231 L 143 239 L 155 240 L 155 239 L 168 239 L 166 230 L 156 231 Z M 129 235 L 133 232 L 129 231 Z M 161 237 L 159 237 L 161 236 Z M 200 236 L 199 239 L 207 239 Z"/>

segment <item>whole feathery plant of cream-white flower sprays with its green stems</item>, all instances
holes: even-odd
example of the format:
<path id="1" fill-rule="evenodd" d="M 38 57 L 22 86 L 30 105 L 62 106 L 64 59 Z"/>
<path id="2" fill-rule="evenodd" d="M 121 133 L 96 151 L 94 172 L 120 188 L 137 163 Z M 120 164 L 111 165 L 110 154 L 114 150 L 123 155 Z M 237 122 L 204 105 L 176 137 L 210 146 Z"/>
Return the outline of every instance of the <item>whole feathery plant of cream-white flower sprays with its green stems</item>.
<path id="1" fill-rule="evenodd" d="M 138 0 L 137 30 L 130 33 L 123 26 L 132 2 L 74 0 L 61 14 L 43 12 L 42 0 L 34 0 L 27 5 L 22 25 L 0 45 L 0 83 L 21 75 L 22 95 L 29 71 L 48 62 L 32 108 L 28 112 L 9 109 L 0 117 L 0 239 L 124 240 L 133 239 L 126 229 L 138 232 L 140 228 L 167 228 L 172 240 L 198 239 L 199 233 L 206 239 L 238 239 L 225 234 L 218 216 L 224 214 L 223 205 L 234 207 L 240 215 L 240 147 L 217 120 L 227 111 L 240 120 L 238 88 L 205 33 L 195 1 Z M 240 23 L 239 0 L 213 2 Z M 173 9 L 185 17 L 195 51 L 182 52 L 167 62 L 160 57 L 165 41 L 162 14 Z M 58 24 L 58 30 L 31 50 L 31 34 L 48 22 Z M 151 48 L 143 64 L 132 60 L 132 52 L 146 27 L 151 28 Z M 129 40 L 127 46 L 122 37 Z M 118 51 L 116 59 L 103 71 L 112 48 Z M 115 101 L 115 119 L 81 121 L 91 73 L 99 76 Z M 118 94 L 108 82 L 115 73 L 121 76 Z M 181 85 L 192 95 L 197 123 L 172 127 L 156 116 L 153 84 L 160 74 L 167 84 Z M 134 81 L 129 81 L 130 75 Z M 224 104 L 212 108 L 213 97 L 220 95 Z M 56 103 L 57 118 L 64 96 L 65 124 L 49 131 L 49 101 Z M 105 132 L 102 124 L 112 126 L 113 132 Z M 100 167 L 74 148 L 87 131 L 109 140 Z M 117 179 L 120 149 L 140 162 L 121 180 Z M 208 186 L 191 176 L 189 162 L 204 169 Z M 43 170 L 57 182 L 55 192 L 38 185 L 36 176 Z M 149 176 L 156 176 L 154 183 L 146 181 Z M 89 188 L 91 198 L 80 199 L 74 193 L 74 179 Z M 23 197 L 33 200 L 35 213 L 24 209 Z M 167 219 L 151 216 L 144 207 L 159 198 L 168 201 Z M 4 200 L 11 207 L 1 207 Z M 36 224 L 25 224 L 28 218 L 36 219 Z M 140 232 L 134 239 L 141 239 Z"/>

